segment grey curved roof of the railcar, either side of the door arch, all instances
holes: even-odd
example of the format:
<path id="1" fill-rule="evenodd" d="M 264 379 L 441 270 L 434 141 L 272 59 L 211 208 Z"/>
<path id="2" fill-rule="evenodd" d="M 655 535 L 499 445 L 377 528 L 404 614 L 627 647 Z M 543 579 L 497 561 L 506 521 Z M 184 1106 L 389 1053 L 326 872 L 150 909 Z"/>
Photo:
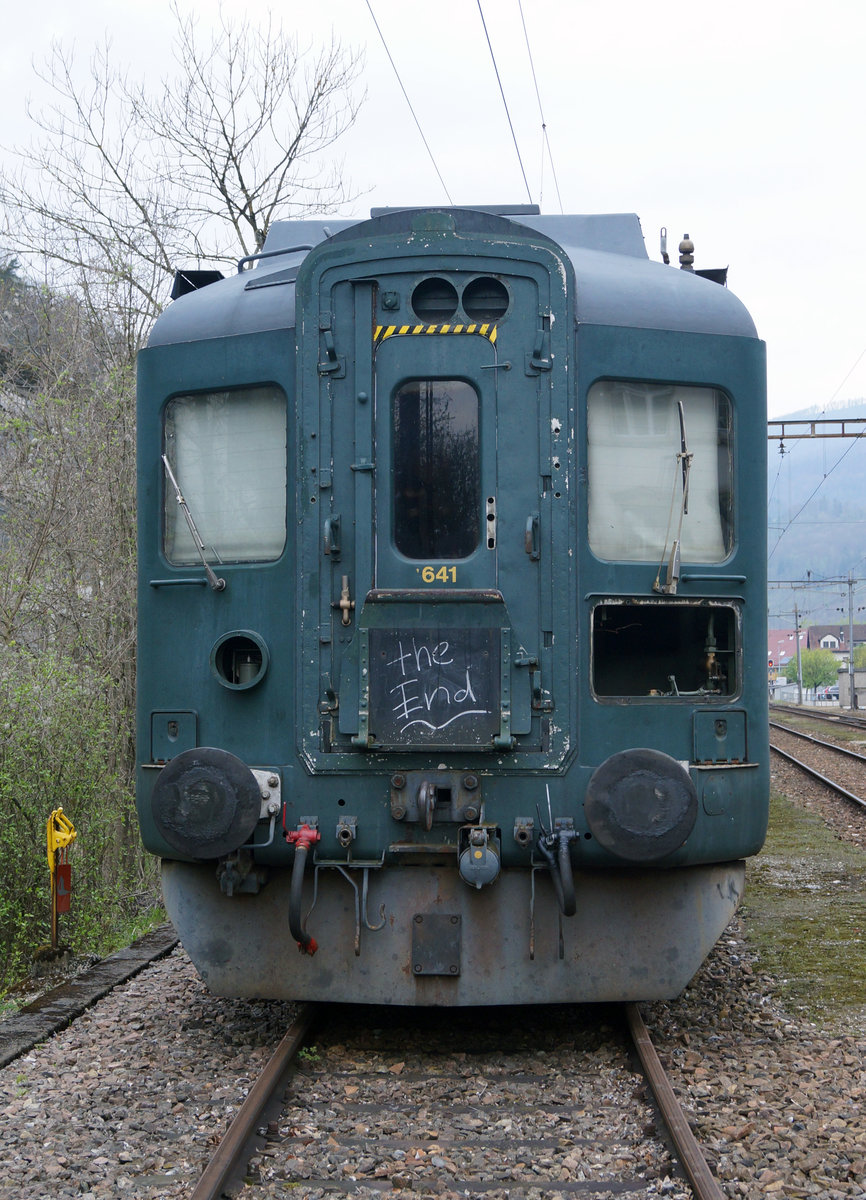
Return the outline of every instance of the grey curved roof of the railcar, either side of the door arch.
<path id="1" fill-rule="evenodd" d="M 149 346 L 293 328 L 293 284 L 309 250 L 325 240 L 409 234 L 414 211 L 374 209 L 367 221 L 273 222 L 254 269 L 180 295 L 156 322 Z M 540 234 L 560 247 L 575 270 L 578 325 L 757 337 L 747 310 L 727 288 L 650 262 L 635 214 L 545 216 L 517 205 L 446 211 L 458 233 Z"/>

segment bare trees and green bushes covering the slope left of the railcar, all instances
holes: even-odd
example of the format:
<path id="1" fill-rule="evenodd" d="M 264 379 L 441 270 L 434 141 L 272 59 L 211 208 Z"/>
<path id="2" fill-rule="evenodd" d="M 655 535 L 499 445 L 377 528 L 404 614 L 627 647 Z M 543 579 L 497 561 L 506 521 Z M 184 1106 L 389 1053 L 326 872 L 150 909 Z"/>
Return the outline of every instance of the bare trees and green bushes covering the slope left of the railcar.
<path id="1" fill-rule="evenodd" d="M 76 950 L 158 902 L 134 811 L 136 354 L 178 269 L 261 248 L 347 197 L 331 155 L 357 54 L 174 10 L 156 86 L 103 46 L 55 46 L 32 142 L 0 169 L 0 991 L 48 936 L 46 823 L 62 808 Z"/>

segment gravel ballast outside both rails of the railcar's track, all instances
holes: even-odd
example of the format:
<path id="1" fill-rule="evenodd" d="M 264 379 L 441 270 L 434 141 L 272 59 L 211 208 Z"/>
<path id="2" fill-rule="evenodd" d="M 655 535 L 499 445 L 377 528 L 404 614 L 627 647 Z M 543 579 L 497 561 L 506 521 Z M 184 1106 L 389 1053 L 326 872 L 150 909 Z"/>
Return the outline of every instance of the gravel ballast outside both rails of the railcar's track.
<path id="1" fill-rule="evenodd" d="M 866 1039 L 772 990 L 735 925 L 644 1015 L 726 1195 L 862 1196 Z M 214 998 L 176 950 L 0 1072 L 0 1196 L 188 1195 L 291 1012 Z"/>

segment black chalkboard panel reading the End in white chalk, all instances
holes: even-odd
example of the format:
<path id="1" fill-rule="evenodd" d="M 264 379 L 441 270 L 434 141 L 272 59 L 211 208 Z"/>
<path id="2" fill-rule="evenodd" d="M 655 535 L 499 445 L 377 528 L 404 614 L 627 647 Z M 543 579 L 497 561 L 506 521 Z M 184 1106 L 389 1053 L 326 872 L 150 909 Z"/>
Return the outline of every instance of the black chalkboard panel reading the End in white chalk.
<path id="1" fill-rule="evenodd" d="M 369 730 L 381 746 L 489 746 L 499 629 L 371 629 Z"/>

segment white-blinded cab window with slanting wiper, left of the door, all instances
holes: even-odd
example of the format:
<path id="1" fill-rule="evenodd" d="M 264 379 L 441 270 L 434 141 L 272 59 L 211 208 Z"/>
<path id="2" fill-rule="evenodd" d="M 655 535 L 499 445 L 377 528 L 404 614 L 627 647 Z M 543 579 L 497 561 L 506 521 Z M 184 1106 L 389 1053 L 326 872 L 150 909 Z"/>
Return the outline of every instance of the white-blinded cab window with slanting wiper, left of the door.
<path id="1" fill-rule="evenodd" d="M 166 406 L 166 457 L 205 554 L 217 563 L 269 562 L 285 546 L 285 396 L 245 388 L 176 396 Z M 164 486 L 169 563 L 198 563 L 174 487 Z"/>

